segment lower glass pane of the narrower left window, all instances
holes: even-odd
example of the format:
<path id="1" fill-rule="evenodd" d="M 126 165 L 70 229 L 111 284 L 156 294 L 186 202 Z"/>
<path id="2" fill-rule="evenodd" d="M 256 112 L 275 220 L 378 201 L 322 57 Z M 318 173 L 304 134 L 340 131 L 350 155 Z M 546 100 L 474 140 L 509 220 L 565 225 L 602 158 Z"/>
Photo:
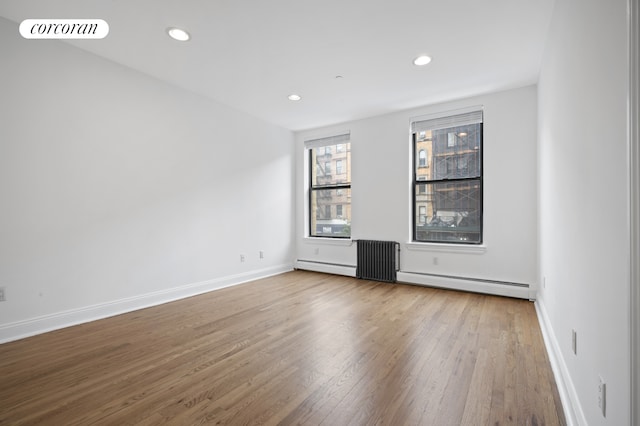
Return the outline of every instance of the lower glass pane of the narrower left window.
<path id="1" fill-rule="evenodd" d="M 311 190 L 311 227 L 314 237 L 351 236 L 351 189 Z"/>

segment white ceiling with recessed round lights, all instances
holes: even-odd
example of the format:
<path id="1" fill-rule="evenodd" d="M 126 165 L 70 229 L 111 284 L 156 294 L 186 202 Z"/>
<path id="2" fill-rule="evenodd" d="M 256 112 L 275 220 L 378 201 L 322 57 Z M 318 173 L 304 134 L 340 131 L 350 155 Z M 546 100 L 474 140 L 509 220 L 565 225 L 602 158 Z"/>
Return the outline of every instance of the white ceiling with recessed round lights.
<path id="1" fill-rule="evenodd" d="M 104 19 L 105 39 L 69 43 L 303 130 L 535 83 L 554 3 L 0 0 L 0 16 Z M 423 53 L 431 64 L 414 66 Z"/>

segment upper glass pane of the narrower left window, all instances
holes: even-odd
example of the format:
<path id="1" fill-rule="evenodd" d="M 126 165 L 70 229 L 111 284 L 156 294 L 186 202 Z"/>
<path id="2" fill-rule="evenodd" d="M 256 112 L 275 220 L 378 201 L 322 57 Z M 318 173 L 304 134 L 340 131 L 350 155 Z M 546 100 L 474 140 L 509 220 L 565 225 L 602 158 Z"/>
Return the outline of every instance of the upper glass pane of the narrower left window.
<path id="1" fill-rule="evenodd" d="M 311 186 L 351 182 L 351 143 L 311 149 Z"/>

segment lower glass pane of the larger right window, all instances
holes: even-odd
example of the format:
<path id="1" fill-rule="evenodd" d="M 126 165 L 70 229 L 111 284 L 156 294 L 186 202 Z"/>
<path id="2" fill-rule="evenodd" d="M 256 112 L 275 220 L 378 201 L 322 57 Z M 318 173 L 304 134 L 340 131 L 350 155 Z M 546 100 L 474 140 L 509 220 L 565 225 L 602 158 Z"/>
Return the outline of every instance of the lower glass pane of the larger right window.
<path id="1" fill-rule="evenodd" d="M 416 241 L 482 242 L 479 179 L 431 183 L 425 187 L 424 193 L 416 188 Z"/>

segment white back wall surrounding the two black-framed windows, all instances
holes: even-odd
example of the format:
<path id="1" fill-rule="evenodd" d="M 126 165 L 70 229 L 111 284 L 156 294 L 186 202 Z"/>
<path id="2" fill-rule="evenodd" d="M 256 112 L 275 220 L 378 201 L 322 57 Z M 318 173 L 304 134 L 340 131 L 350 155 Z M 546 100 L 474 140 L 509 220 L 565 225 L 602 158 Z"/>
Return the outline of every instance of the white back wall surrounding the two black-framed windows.
<path id="1" fill-rule="evenodd" d="M 403 281 L 462 286 L 514 294 L 501 284 L 443 280 L 437 274 L 481 280 L 537 284 L 536 87 L 529 86 L 445 104 L 373 117 L 296 134 L 297 259 L 355 265 L 355 244 L 306 238 L 304 208 L 308 173 L 304 141 L 351 132 L 352 238 L 398 241 Z M 473 106 L 484 108 L 484 244 L 465 249 L 411 241 L 412 117 Z M 318 253 L 316 254 L 316 250 Z M 434 258 L 437 257 L 437 265 Z M 299 263 L 300 266 L 300 263 Z M 306 267 L 309 265 L 307 264 Z M 353 268 L 351 268 L 353 270 Z M 348 273 L 348 271 L 346 271 Z M 416 274 L 412 274 L 416 273 Z M 399 276 L 400 277 L 400 276 Z M 522 289 L 519 289 L 522 290 Z"/>

